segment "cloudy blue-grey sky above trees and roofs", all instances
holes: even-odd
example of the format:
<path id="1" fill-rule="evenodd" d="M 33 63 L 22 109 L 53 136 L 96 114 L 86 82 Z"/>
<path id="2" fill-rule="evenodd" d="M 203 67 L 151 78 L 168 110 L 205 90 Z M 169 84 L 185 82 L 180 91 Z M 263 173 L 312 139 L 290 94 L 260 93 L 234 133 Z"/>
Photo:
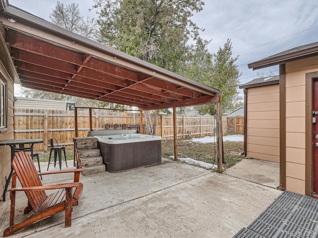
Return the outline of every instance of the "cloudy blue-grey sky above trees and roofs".
<path id="1" fill-rule="evenodd" d="M 81 14 L 96 17 L 96 10 L 88 9 L 93 0 L 60 0 L 65 4 L 76 2 Z M 203 0 L 203 10 L 194 13 L 192 20 L 205 30 L 200 37 L 211 40 L 210 53 L 217 53 L 227 39 L 231 39 L 233 57 L 242 73 L 240 83 L 257 78 L 257 72 L 272 71 L 278 75 L 278 66 L 257 71 L 247 63 L 276 53 L 318 41 L 318 4 L 316 0 Z M 36 16 L 49 19 L 56 5 L 54 0 L 9 0 L 9 4 Z M 16 90 L 17 94 L 19 93 Z M 19 95 L 17 95 L 19 96 Z"/>

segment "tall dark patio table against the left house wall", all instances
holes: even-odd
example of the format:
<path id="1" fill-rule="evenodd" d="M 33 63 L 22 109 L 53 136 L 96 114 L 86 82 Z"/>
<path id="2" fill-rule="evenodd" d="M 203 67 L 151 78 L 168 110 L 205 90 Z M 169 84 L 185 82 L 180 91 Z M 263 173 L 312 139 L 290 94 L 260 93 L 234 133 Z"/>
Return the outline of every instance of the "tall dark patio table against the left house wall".
<path id="1" fill-rule="evenodd" d="M 37 144 L 37 143 L 43 143 L 43 139 L 42 138 L 39 138 L 39 139 L 11 139 L 11 140 L 1 140 L 0 141 L 0 146 L 10 146 L 11 147 L 11 171 L 10 171 L 10 174 L 9 174 L 9 177 L 8 179 L 6 180 L 5 182 L 5 186 L 4 186 L 4 191 L 3 191 L 3 195 L 2 195 L 2 201 L 4 202 L 5 201 L 5 193 L 6 193 L 6 190 L 8 188 L 8 185 L 9 185 L 9 182 L 10 182 L 10 179 L 11 179 L 11 176 L 12 176 L 12 172 L 13 172 L 13 168 L 12 168 L 12 159 L 13 159 L 13 156 L 14 156 L 14 153 L 16 151 L 19 151 L 19 150 L 28 150 L 31 152 L 31 156 L 33 155 L 33 146 L 34 144 Z M 16 148 L 16 146 L 19 145 L 19 147 L 24 147 L 24 145 L 29 145 L 29 147 L 24 147 L 24 148 Z"/>

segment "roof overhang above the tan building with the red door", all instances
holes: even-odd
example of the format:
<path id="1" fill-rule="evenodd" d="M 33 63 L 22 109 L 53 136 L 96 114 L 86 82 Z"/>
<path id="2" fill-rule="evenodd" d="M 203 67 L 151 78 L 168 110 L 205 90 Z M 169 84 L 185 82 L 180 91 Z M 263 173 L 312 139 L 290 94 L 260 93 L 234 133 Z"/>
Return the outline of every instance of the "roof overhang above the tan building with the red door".
<path id="1" fill-rule="evenodd" d="M 253 68 L 253 70 L 255 70 L 313 56 L 318 56 L 318 42 L 298 46 L 247 65 L 248 68 Z"/>

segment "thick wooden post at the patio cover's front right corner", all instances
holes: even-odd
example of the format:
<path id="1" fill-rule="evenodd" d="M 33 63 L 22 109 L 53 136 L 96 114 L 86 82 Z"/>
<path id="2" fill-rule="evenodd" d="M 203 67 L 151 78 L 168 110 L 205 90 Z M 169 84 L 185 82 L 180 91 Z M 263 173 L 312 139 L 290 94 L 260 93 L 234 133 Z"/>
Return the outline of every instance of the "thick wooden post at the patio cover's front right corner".
<path id="1" fill-rule="evenodd" d="M 217 158 L 218 158 L 218 172 L 222 173 L 223 163 L 223 131 L 222 131 L 222 108 L 221 95 L 220 102 L 217 103 Z"/>

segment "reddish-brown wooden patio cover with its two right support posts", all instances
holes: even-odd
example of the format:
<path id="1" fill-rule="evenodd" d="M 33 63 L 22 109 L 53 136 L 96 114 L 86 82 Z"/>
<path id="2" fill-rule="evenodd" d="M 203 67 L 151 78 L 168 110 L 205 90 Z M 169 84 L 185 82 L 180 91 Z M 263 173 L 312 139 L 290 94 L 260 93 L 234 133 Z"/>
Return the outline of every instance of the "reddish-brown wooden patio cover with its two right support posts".
<path id="1" fill-rule="evenodd" d="M 176 108 L 217 104 L 218 170 L 222 172 L 221 95 L 156 65 L 131 57 L 1 0 L 1 43 L 18 77 L 32 89 L 137 107 L 140 111 L 173 108 L 175 159 Z"/>

